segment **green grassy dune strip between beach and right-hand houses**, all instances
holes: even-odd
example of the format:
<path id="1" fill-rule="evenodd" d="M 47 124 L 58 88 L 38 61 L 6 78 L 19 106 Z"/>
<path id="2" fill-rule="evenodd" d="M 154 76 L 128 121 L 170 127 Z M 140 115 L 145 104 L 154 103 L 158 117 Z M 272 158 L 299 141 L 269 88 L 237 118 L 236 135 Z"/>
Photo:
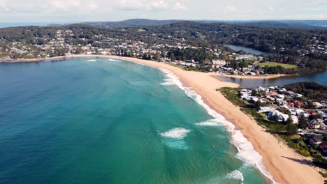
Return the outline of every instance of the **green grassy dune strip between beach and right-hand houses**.
<path id="1" fill-rule="evenodd" d="M 301 155 L 306 157 L 310 156 L 310 152 L 308 151 L 310 150 L 310 147 L 305 145 L 299 135 L 286 135 L 287 125 L 268 120 L 266 114 L 256 112 L 256 108 L 253 104 L 249 104 L 248 102 L 238 98 L 238 91 L 240 91 L 240 89 L 222 88 L 220 91 L 229 101 L 233 102 L 234 105 L 238 105 L 242 112 L 252 116 L 252 118 L 256 120 L 256 123 L 267 128 L 267 130 L 271 133 L 279 135 L 279 137 L 281 137 L 288 146 L 295 149 Z"/>

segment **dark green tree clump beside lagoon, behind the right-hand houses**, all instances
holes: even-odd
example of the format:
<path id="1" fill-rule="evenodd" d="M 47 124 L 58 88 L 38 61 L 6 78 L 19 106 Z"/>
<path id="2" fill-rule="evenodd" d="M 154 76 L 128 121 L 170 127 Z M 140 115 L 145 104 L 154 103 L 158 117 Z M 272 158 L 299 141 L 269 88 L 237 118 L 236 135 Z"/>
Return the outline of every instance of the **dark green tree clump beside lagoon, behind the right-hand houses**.
<path id="1" fill-rule="evenodd" d="M 288 84 L 285 89 L 291 90 L 295 93 L 300 93 L 310 100 L 326 100 L 327 86 L 317 84 L 316 82 L 298 82 Z"/>

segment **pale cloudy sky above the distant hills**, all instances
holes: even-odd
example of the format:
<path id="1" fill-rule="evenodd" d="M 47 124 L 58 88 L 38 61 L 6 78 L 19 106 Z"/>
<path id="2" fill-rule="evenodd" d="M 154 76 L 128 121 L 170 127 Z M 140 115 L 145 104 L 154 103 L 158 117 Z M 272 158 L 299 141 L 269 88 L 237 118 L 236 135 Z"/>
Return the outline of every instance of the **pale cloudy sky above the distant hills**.
<path id="1" fill-rule="evenodd" d="M 327 0 L 0 0 L 0 22 L 327 20 Z"/>

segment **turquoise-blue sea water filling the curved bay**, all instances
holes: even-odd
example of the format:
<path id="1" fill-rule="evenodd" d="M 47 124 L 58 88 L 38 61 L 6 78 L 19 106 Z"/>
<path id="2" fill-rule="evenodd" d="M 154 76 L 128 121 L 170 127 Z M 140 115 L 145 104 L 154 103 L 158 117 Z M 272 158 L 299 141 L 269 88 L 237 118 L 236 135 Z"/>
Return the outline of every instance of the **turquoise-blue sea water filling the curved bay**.
<path id="1" fill-rule="evenodd" d="M 0 183 L 266 183 L 160 70 L 78 58 L 0 77 Z"/>

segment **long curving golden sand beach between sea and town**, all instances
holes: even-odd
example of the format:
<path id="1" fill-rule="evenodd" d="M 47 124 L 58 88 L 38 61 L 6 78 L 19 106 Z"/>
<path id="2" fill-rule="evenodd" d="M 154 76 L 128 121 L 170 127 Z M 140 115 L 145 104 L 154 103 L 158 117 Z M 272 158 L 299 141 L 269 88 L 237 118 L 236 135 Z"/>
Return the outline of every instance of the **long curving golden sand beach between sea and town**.
<path id="1" fill-rule="evenodd" d="M 77 56 L 90 57 L 94 55 L 73 55 L 48 60 L 68 59 Z M 252 143 L 254 149 L 263 156 L 263 163 L 278 183 L 324 183 L 324 178 L 314 167 L 305 164 L 302 156 L 266 132 L 252 118 L 241 112 L 239 107 L 233 105 L 224 98 L 224 95 L 216 91 L 216 89 L 224 86 L 238 87 L 238 84 L 221 82 L 214 77 L 214 73 L 186 71 L 166 63 L 121 56 L 105 57 L 124 59 L 154 68 L 165 68 L 180 77 L 183 84 L 191 87 L 200 94 L 212 109 L 215 109 L 215 111 L 222 114 L 228 121 L 234 123 L 235 127 Z"/>

